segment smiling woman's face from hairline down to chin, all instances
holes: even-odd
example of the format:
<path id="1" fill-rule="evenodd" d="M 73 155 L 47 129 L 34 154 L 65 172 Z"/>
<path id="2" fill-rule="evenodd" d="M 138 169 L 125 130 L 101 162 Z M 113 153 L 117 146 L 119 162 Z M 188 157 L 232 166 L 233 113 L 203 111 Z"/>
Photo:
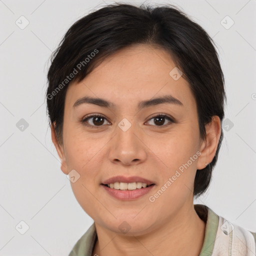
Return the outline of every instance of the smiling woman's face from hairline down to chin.
<path id="1" fill-rule="evenodd" d="M 70 184 L 77 201 L 108 230 L 142 234 L 182 217 L 181 209 L 192 205 L 196 169 L 205 167 L 200 156 L 204 142 L 188 82 L 173 68 L 163 49 L 130 46 L 68 86 L 61 170 L 65 174 L 72 170 Z M 77 101 L 85 96 L 102 98 L 108 106 L 96 104 L 99 100 Z M 140 103 L 167 96 L 176 101 Z M 85 121 L 88 115 L 101 117 Z M 144 178 L 154 185 L 116 190 L 102 184 L 117 175 L 137 176 L 135 180 Z"/>

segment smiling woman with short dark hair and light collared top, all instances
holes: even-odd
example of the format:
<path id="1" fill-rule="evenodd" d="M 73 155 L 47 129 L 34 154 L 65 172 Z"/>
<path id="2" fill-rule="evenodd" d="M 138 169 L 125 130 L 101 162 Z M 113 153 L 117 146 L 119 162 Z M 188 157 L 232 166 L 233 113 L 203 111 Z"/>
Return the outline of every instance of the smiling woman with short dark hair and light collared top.
<path id="1" fill-rule="evenodd" d="M 254 255 L 256 233 L 193 204 L 222 141 L 213 41 L 182 11 L 112 4 L 76 21 L 52 56 L 52 141 L 94 220 L 76 255 Z"/>

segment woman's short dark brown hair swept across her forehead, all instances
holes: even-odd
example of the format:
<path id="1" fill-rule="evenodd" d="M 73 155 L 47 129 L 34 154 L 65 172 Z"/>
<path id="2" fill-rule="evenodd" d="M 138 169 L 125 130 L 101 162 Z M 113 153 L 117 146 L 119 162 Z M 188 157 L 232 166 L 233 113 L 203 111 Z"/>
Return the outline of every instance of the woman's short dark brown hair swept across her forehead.
<path id="1" fill-rule="evenodd" d="M 170 4 L 151 7 L 114 3 L 76 21 L 51 55 L 47 112 L 59 143 L 62 143 L 65 93 L 70 81 L 81 81 L 107 56 L 125 46 L 141 43 L 158 45 L 169 52 L 182 77 L 189 82 L 202 139 L 206 136 L 205 124 L 213 115 L 222 121 L 226 100 L 224 77 L 215 44 L 206 31 Z M 222 137 L 221 128 L 215 156 L 204 169 L 196 171 L 194 196 L 209 186 Z"/>

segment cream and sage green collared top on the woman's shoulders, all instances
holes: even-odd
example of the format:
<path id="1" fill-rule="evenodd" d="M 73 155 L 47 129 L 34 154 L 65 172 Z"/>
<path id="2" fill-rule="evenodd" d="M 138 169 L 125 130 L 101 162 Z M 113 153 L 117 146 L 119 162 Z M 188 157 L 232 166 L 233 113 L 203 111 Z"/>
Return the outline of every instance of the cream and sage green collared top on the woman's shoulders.
<path id="1" fill-rule="evenodd" d="M 232 224 L 203 204 L 194 204 L 206 223 L 200 256 L 255 256 L 256 232 Z M 75 243 L 68 256 L 93 256 L 97 240 L 95 223 Z"/>

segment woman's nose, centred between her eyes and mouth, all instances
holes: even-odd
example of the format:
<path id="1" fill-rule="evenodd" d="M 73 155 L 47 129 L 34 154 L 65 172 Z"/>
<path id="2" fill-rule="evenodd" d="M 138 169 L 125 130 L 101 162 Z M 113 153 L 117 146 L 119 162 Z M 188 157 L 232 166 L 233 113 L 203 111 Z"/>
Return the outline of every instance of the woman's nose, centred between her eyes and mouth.
<path id="1" fill-rule="evenodd" d="M 109 160 L 122 165 L 135 165 L 145 161 L 146 145 L 137 125 L 123 119 L 116 127 L 116 134 L 111 139 Z"/>

